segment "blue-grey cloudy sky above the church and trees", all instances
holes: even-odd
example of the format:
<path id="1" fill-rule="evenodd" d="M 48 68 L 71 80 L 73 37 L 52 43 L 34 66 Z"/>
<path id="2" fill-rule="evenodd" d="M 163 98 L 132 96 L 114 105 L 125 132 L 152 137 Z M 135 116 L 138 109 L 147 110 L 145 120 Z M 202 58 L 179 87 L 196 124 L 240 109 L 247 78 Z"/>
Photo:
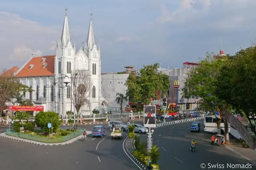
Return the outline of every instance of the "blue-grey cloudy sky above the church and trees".
<path id="1" fill-rule="evenodd" d="M 256 0 L 0 0 L 0 67 L 21 67 L 34 53 L 55 54 L 68 9 L 76 49 L 90 14 L 102 72 L 197 62 L 206 52 L 235 54 L 256 41 Z"/>

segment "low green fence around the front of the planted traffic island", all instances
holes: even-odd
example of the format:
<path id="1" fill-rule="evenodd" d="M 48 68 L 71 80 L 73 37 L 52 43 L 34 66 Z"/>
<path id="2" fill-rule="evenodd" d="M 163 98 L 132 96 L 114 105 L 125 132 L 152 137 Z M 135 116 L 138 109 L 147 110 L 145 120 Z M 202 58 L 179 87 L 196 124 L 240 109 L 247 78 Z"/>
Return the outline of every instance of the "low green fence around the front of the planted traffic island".
<path id="1" fill-rule="evenodd" d="M 68 128 L 69 127 L 67 127 L 67 129 Z M 32 141 L 38 141 L 38 142 L 42 142 L 42 143 L 62 143 L 62 142 L 68 141 L 74 137 L 78 137 L 79 135 L 82 135 L 83 131 L 84 130 L 78 130 L 78 131 L 72 132 L 71 134 L 69 134 L 67 136 L 55 137 L 53 139 L 50 139 L 48 137 L 42 137 L 39 135 L 33 136 L 33 135 L 26 134 L 26 133 L 18 133 L 18 132 L 14 132 L 14 131 L 9 131 L 9 129 L 6 130 L 6 135 L 13 136 L 13 137 L 19 137 L 22 139 L 28 139 L 28 140 L 32 140 Z"/>

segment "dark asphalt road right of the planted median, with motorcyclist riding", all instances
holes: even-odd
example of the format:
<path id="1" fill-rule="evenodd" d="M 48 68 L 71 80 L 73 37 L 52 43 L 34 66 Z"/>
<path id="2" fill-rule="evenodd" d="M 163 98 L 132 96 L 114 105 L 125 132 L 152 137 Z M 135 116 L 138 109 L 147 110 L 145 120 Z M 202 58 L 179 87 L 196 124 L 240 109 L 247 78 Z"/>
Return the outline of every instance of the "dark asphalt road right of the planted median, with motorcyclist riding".
<path id="1" fill-rule="evenodd" d="M 223 146 L 212 146 L 210 144 L 210 134 L 206 134 L 203 131 L 200 133 L 191 133 L 191 123 L 174 124 L 155 129 L 152 138 L 153 145 L 160 147 L 160 159 L 158 161 L 160 169 L 200 170 L 202 169 L 200 167 L 202 163 L 206 164 L 206 168 L 204 169 L 214 169 L 208 168 L 208 164 L 212 166 L 224 164 L 224 168 L 219 169 L 227 169 L 227 163 L 248 163 L 247 160 L 239 158 Z M 203 126 L 203 122 L 201 121 L 201 129 L 203 129 Z M 195 152 L 190 151 L 190 142 L 192 139 L 195 139 L 197 143 Z M 142 136 L 142 140 L 146 141 L 146 136 Z"/>

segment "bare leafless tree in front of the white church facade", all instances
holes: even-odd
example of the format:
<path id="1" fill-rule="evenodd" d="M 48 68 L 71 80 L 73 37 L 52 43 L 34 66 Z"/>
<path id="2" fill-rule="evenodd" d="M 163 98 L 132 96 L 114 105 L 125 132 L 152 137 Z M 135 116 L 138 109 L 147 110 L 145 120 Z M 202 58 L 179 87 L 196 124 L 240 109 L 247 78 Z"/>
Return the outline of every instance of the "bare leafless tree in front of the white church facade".
<path id="1" fill-rule="evenodd" d="M 88 97 L 90 96 L 91 92 L 93 94 L 92 97 L 96 98 L 96 90 L 92 90 L 91 76 L 87 70 L 74 71 L 71 83 L 73 84 L 72 92 L 74 94 L 74 98 L 72 98 L 72 100 L 75 104 L 76 112 L 78 114 L 81 107 L 84 106 L 86 100 L 88 100 Z"/>

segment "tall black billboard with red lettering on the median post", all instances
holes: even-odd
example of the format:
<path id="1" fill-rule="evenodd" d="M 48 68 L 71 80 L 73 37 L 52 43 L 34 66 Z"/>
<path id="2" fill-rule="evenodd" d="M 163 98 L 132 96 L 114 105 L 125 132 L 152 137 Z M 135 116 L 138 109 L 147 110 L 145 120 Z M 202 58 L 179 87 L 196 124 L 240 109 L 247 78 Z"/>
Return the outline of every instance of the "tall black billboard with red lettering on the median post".
<path id="1" fill-rule="evenodd" d="M 156 127 L 156 106 L 144 106 L 144 127 Z"/>

